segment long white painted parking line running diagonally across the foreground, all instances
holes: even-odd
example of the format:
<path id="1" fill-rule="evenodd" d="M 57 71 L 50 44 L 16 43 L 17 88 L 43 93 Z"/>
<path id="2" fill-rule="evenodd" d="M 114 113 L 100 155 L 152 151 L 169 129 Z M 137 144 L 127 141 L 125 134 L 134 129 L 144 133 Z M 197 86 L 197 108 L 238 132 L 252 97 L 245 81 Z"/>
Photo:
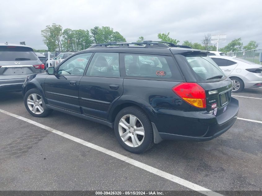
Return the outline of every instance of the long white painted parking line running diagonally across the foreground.
<path id="1" fill-rule="evenodd" d="M 170 173 L 163 172 L 162 170 L 159 170 L 159 169 L 157 169 L 157 168 L 153 168 L 153 167 L 151 167 L 151 166 L 149 166 L 149 165 L 147 165 L 147 164 L 141 163 L 141 162 L 136 161 L 136 160 L 134 160 L 134 159 L 131 159 L 131 158 L 127 157 L 127 156 L 120 155 L 120 154 L 118 154 L 118 153 L 116 153 L 116 152 L 113 152 L 113 151 L 111 151 L 111 150 L 107 150 L 107 149 L 105 149 L 105 148 L 103 148 L 103 147 L 97 146 L 97 145 L 92 144 L 92 143 L 90 143 L 90 142 L 86 142 L 86 141 L 81 140 L 81 139 L 79 139 L 79 138 L 77 138 L 77 137 L 73 137 L 73 136 L 71 136 L 71 135 L 68 135 L 68 134 L 66 134 L 66 133 L 63 133 L 63 132 L 58 131 L 58 130 L 56 130 L 56 129 L 47 127 L 47 126 L 45 126 L 45 125 L 43 125 L 43 124 L 40 124 L 40 123 L 37 123 L 37 122 L 35 122 L 35 121 L 33 121 L 33 120 L 29 120 L 29 119 L 24 118 L 24 117 L 22 117 L 22 116 L 19 116 L 19 115 L 16 115 L 16 114 L 12 114 L 12 113 L 10 113 L 10 112 L 8 112 L 8 111 L 4 111 L 4 110 L 1 110 L 1 109 L 0 109 L 0 112 L 2 112 L 2 113 L 4 113 L 4 114 L 7 114 L 7 115 L 10 115 L 10 116 L 13 116 L 13 117 L 15 117 L 15 118 L 17 118 L 17 119 L 24 120 L 25 122 L 28 122 L 28 123 L 33 124 L 33 125 L 35 125 L 35 126 L 38 126 L 38 127 L 40 127 L 40 128 L 46 129 L 47 131 L 50 131 L 50 132 L 52 132 L 52 133 L 56 133 L 56 134 L 58 134 L 58 135 L 60 135 L 60 136 L 63 136 L 63 137 L 65 137 L 65 138 L 68 138 L 69 140 L 72 140 L 72 141 L 74 141 L 74 142 L 78 142 L 79 144 L 82 144 L 82 145 L 84 145 L 84 146 L 90 147 L 90 148 L 92 148 L 92 149 L 94 149 L 94 150 L 98 150 L 98 151 L 100 151 L 100 152 L 103 152 L 103 153 L 105 153 L 105 154 L 107 154 L 107 155 L 110 155 L 110 156 L 112 156 L 112 157 L 115 157 L 115 158 L 117 158 L 117 159 L 120 159 L 120 160 L 122 160 L 122 161 L 124 161 L 124 162 L 126 162 L 126 163 L 129 163 L 129 164 L 131 164 L 131 165 L 134 165 L 134 166 L 136 166 L 136 167 L 138 167 L 138 168 L 144 169 L 144 170 L 146 170 L 146 171 L 148 171 L 148 172 L 151 172 L 151 173 L 153 173 L 153 174 L 155 174 L 155 175 L 158 175 L 158 176 L 161 176 L 161 177 L 163 177 L 163 178 L 166 178 L 167 180 L 173 181 L 173 182 L 175 182 L 175 183 L 177 183 L 177 184 L 180 184 L 180 185 L 182 185 L 182 186 L 185 186 L 185 187 L 187 187 L 187 188 L 189 188 L 189 189 L 193 189 L 193 190 L 195 190 L 195 191 L 198 191 L 199 193 L 202 193 L 202 194 L 205 194 L 205 195 L 208 195 L 208 196 L 223 196 L 222 194 L 219 194 L 219 193 L 216 193 L 216 192 L 211 191 L 211 190 L 209 190 L 209 189 L 206 189 L 206 188 L 204 188 L 204 187 L 202 187 L 202 186 L 199 186 L 199 185 L 197 185 L 197 184 L 194 184 L 194 183 L 192 183 L 192 182 L 189 182 L 189 181 L 187 181 L 187 180 L 184 180 L 184 179 L 182 179 L 182 178 L 180 178 L 180 177 L 178 177 L 178 176 L 174 176 L 174 175 L 172 175 L 172 174 L 170 174 Z"/>

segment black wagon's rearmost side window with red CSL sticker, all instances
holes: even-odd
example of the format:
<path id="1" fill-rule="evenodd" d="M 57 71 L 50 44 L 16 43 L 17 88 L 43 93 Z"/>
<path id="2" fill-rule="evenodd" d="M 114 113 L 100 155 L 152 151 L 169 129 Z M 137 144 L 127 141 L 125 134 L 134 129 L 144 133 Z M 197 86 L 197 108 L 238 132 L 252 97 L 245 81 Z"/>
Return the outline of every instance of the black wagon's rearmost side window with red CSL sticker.
<path id="1" fill-rule="evenodd" d="M 171 56 L 122 54 L 128 77 L 183 80 Z"/>

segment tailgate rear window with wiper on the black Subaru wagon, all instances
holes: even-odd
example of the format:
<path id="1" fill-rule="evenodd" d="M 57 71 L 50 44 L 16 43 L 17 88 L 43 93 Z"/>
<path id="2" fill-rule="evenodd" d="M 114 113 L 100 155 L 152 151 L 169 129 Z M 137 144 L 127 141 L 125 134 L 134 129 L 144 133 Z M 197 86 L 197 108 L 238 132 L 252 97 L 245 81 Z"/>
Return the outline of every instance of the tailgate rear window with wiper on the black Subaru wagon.
<path id="1" fill-rule="evenodd" d="M 221 80 L 224 73 L 218 65 L 206 54 L 178 54 L 189 65 L 198 82 Z"/>

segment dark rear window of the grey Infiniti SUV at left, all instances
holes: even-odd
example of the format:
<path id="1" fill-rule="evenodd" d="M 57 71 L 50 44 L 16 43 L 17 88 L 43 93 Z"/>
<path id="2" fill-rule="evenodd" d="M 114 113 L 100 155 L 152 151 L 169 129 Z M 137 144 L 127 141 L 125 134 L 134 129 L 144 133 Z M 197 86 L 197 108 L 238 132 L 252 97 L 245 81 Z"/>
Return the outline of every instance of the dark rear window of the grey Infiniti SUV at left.
<path id="1" fill-rule="evenodd" d="M 37 60 L 32 48 L 23 46 L 0 46 L 0 61 Z"/>

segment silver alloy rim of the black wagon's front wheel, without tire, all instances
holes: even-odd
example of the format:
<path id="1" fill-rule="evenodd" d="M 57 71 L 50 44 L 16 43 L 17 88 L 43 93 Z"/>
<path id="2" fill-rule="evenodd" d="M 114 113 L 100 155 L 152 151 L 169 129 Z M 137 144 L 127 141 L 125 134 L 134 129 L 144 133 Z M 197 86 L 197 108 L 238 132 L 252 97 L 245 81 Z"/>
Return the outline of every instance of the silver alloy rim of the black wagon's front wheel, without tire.
<path id="1" fill-rule="evenodd" d="M 27 106 L 34 114 L 42 114 L 44 108 L 42 105 L 42 98 L 38 94 L 30 94 L 27 98 Z"/>

